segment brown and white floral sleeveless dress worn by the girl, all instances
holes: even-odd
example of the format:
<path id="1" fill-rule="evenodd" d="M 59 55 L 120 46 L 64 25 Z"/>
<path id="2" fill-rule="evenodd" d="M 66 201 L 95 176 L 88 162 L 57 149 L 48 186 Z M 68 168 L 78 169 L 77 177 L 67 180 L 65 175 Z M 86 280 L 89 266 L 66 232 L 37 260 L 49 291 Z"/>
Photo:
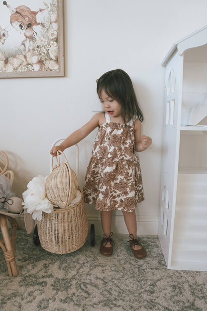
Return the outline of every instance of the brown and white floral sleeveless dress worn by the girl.
<path id="1" fill-rule="evenodd" d="M 84 185 L 84 200 L 101 211 L 133 211 L 144 200 L 133 120 L 100 125 Z"/>

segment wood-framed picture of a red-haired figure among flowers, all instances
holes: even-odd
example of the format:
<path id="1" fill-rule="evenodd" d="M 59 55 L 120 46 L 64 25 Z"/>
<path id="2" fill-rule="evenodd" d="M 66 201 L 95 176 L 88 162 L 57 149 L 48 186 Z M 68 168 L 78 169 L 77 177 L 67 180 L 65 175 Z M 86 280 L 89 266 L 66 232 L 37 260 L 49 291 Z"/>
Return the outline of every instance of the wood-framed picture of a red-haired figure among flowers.
<path id="1" fill-rule="evenodd" d="M 0 78 L 63 76 L 63 0 L 0 0 Z"/>

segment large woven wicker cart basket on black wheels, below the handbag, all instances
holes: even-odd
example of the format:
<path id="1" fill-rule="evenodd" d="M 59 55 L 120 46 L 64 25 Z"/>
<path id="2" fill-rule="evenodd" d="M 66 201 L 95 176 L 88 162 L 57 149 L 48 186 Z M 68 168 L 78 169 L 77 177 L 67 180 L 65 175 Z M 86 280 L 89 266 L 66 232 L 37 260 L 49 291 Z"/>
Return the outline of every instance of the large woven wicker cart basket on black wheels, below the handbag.
<path id="1" fill-rule="evenodd" d="M 88 235 L 88 219 L 84 207 L 82 190 L 81 200 L 64 209 L 54 208 L 53 212 L 42 213 L 37 222 L 41 246 L 50 253 L 68 254 L 84 245 Z"/>

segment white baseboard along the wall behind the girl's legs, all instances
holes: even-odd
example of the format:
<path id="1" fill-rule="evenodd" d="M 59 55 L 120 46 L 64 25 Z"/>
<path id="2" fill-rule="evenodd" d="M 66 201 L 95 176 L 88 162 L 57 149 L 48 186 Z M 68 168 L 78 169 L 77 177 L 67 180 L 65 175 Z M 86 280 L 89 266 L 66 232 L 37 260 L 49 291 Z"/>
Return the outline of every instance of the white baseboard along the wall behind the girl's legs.
<path id="1" fill-rule="evenodd" d="M 158 216 L 137 216 L 137 234 L 138 235 L 158 235 Z M 16 219 L 19 229 L 25 230 L 23 214 Z M 103 234 L 100 215 L 88 215 L 89 232 L 91 224 L 95 225 L 96 234 Z M 112 216 L 111 231 L 114 234 L 128 234 L 123 215 Z"/>

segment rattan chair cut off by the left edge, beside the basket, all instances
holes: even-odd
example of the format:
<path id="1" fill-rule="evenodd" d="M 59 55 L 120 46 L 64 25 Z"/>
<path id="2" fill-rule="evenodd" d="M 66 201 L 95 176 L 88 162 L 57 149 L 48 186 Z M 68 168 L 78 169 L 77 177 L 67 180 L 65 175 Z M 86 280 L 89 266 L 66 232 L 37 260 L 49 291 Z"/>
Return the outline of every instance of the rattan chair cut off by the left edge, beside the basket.
<path id="1" fill-rule="evenodd" d="M 0 151 L 0 175 L 5 175 L 11 183 L 13 182 L 14 174 L 11 170 L 7 170 L 8 167 L 8 157 L 7 155 Z M 20 199 L 19 199 L 20 200 Z M 0 240 L 0 247 L 3 251 L 5 261 L 8 268 L 9 277 L 16 277 L 18 275 L 18 269 L 15 260 L 15 248 L 16 248 L 16 230 L 18 228 L 17 221 L 15 218 L 19 217 L 23 212 L 23 208 L 18 213 L 9 213 L 0 209 L 0 229 L 2 233 L 2 239 Z M 7 221 L 10 223 L 12 228 L 11 237 L 9 236 Z"/>

